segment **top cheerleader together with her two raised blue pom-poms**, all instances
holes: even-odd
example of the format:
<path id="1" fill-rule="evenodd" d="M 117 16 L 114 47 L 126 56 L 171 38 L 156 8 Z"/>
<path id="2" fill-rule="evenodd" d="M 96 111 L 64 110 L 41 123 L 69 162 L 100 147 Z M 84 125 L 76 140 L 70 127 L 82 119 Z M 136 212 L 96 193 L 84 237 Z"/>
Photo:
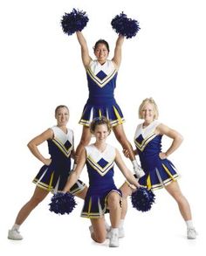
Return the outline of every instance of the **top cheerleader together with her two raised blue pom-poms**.
<path id="1" fill-rule="evenodd" d="M 129 157 L 134 165 L 134 171 L 138 177 L 144 175 L 140 166 L 135 160 L 130 142 L 127 140 L 123 129 L 124 116 L 119 105 L 114 99 L 113 93 L 116 86 L 116 79 L 121 62 L 121 48 L 124 38 L 132 38 L 140 30 L 136 20 L 127 18 L 127 15 L 121 13 L 112 20 L 113 29 L 119 34 L 114 49 L 113 59 L 107 59 L 109 55 L 109 45 L 104 39 L 98 40 L 94 47 L 94 55 L 96 59 L 90 57 L 86 38 L 82 34 L 83 28 L 88 22 L 86 12 L 73 10 L 66 14 L 62 19 L 63 31 L 71 35 L 76 31 L 76 35 L 81 46 L 81 57 L 83 65 L 86 68 L 86 76 L 88 81 L 89 99 L 83 110 L 83 114 L 79 123 L 83 125 L 83 131 L 79 146 L 76 150 L 76 160 L 80 156 L 81 151 L 91 140 L 91 132 L 89 125 L 93 118 L 102 115 L 110 121 L 113 133 L 120 142 L 123 149 L 129 151 Z"/>

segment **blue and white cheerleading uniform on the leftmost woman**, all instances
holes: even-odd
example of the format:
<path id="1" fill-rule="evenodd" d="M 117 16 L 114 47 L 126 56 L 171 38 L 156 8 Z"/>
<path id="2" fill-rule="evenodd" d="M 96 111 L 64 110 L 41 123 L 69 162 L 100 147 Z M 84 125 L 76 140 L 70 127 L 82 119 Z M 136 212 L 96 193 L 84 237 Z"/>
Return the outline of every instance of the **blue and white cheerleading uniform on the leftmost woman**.
<path id="1" fill-rule="evenodd" d="M 68 176 L 71 172 L 71 152 L 73 149 L 73 131 L 67 128 L 67 134 L 57 126 L 52 127 L 53 139 L 48 140 L 49 154 L 52 163 L 44 165 L 33 179 L 38 187 L 52 192 L 61 191 L 65 187 Z M 78 180 L 70 192 L 75 195 L 84 190 L 86 184 Z"/>

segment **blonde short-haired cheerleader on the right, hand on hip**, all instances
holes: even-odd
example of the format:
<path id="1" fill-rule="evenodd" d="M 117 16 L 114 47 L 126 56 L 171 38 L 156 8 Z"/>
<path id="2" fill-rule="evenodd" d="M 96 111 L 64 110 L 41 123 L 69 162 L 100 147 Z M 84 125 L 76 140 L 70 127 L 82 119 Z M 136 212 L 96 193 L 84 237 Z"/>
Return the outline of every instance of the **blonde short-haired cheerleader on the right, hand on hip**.
<path id="1" fill-rule="evenodd" d="M 140 156 L 141 168 L 146 173 L 145 176 L 139 179 L 139 183 L 148 190 L 165 188 L 179 206 L 182 218 L 187 225 L 187 238 L 196 239 L 197 232 L 192 222 L 189 202 L 180 190 L 177 182 L 179 175 L 175 166 L 168 160 L 168 156 L 180 147 L 182 135 L 157 121 L 158 115 L 157 105 L 152 98 L 142 101 L 139 108 L 139 117 L 144 121 L 137 126 L 134 135 L 136 146 L 134 154 Z M 163 135 L 173 140 L 171 146 L 165 152 L 161 151 Z M 128 156 L 128 154 L 126 150 L 125 156 Z"/>

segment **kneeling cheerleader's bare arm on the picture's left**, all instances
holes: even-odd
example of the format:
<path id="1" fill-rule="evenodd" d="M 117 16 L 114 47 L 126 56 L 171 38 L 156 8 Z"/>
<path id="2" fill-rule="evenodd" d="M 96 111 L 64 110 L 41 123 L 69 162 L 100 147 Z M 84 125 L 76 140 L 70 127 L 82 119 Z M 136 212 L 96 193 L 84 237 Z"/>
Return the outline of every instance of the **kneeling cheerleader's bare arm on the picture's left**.
<path id="1" fill-rule="evenodd" d="M 86 150 L 82 150 L 81 155 L 79 156 L 79 162 L 75 170 L 72 171 L 71 175 L 68 177 L 67 182 L 65 184 L 65 188 L 63 192 L 68 192 L 74 183 L 76 183 L 79 179 L 79 176 L 85 166 L 86 163 Z"/>

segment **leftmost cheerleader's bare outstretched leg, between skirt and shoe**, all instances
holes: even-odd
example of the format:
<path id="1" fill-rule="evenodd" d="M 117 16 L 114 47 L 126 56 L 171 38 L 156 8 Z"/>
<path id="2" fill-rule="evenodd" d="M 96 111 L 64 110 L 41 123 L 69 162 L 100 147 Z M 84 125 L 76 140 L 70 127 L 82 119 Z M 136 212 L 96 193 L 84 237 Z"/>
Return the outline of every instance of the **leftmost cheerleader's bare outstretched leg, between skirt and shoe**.
<path id="1" fill-rule="evenodd" d="M 39 187 L 36 187 L 30 201 L 24 204 L 22 209 L 18 212 L 15 223 L 17 225 L 22 225 L 24 220 L 30 215 L 31 211 L 45 199 L 48 193 L 48 190 L 43 190 Z"/>

